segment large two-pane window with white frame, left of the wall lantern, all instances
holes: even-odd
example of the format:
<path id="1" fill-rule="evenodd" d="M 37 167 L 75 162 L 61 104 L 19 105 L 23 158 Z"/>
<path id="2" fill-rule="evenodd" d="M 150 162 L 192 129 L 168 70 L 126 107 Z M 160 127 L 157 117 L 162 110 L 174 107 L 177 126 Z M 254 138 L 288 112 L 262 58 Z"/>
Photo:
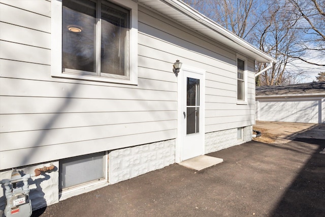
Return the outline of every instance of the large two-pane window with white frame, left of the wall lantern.
<path id="1" fill-rule="evenodd" d="M 54 41 L 58 42 L 54 36 L 61 33 L 59 43 L 52 44 L 54 55 L 60 53 L 54 61 L 52 58 L 53 76 L 137 83 L 136 3 L 122 1 L 115 4 L 107 0 L 52 2 L 52 24 L 55 20 L 61 23 L 60 29 L 58 24 L 52 26 Z M 60 15 L 55 13 L 57 8 L 61 8 Z"/>

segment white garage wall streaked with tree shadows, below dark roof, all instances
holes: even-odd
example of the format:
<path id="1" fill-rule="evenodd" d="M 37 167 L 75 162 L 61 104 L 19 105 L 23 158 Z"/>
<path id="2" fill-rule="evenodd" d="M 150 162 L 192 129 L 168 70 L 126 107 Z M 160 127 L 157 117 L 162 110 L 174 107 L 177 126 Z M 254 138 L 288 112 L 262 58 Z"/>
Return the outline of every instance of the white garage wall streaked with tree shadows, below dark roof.
<path id="1" fill-rule="evenodd" d="M 256 119 L 321 123 L 321 100 L 257 101 Z"/>

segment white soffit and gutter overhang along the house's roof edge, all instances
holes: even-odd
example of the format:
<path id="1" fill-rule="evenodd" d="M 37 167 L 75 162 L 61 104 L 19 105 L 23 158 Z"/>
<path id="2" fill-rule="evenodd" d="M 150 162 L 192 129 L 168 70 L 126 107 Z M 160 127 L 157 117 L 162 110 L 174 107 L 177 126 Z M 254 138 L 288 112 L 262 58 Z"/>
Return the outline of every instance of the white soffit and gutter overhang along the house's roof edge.
<path id="1" fill-rule="evenodd" d="M 273 57 L 256 49 L 180 0 L 137 0 L 137 2 L 259 63 L 276 62 Z"/>

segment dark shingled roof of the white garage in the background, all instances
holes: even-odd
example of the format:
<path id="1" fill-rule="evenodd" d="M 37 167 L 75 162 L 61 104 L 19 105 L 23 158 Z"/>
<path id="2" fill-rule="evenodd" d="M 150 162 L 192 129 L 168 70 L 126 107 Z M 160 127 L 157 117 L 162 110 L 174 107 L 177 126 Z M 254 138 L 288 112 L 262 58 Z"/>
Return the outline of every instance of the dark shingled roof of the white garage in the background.
<path id="1" fill-rule="evenodd" d="M 286 94 L 324 94 L 325 82 L 311 82 L 282 86 L 257 86 L 256 96 L 286 95 Z"/>

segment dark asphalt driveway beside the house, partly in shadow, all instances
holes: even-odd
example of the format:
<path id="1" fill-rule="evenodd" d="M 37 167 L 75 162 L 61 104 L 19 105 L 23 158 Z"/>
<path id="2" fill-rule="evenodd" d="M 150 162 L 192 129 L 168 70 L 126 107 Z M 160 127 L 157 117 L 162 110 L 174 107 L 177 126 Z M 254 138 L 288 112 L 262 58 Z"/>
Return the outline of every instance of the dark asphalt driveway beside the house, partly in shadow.
<path id="1" fill-rule="evenodd" d="M 32 216 L 324 216 L 325 139 L 291 139 L 223 149 L 202 171 L 173 164 Z"/>

